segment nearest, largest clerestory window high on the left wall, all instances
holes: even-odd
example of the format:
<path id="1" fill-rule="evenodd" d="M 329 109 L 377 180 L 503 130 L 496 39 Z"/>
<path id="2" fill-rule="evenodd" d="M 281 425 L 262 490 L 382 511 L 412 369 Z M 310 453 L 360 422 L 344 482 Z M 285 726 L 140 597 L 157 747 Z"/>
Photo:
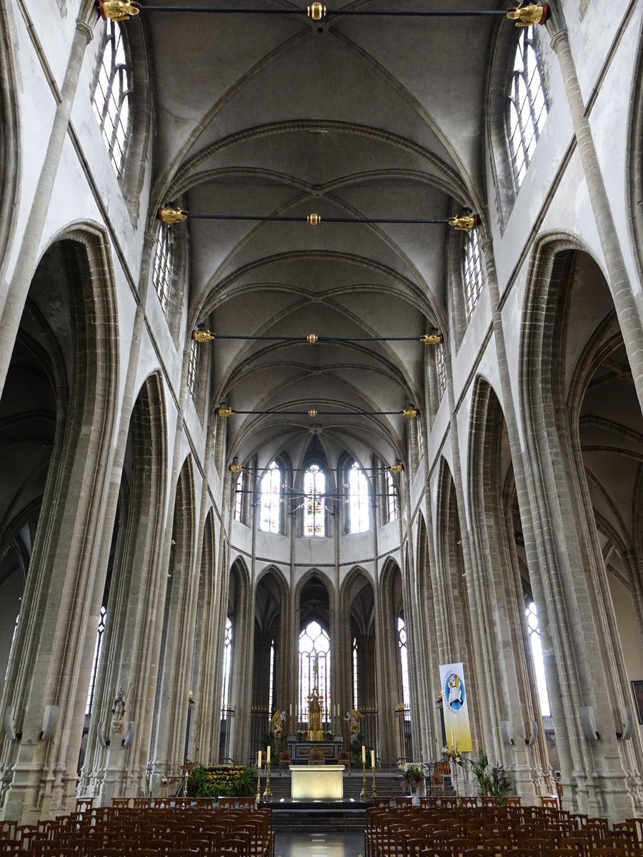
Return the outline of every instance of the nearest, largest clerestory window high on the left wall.
<path id="1" fill-rule="evenodd" d="M 129 134 L 131 84 L 123 33 L 114 21 L 107 21 L 98 73 L 92 93 L 93 114 L 99 123 L 111 165 L 117 176 L 123 169 Z"/>

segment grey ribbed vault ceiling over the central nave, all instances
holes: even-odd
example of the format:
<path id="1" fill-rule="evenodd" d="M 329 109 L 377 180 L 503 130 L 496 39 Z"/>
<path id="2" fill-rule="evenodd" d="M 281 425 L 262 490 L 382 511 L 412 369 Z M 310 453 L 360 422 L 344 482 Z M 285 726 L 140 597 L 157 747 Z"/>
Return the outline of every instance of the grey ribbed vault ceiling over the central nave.
<path id="1" fill-rule="evenodd" d="M 283 0 L 212 4 L 295 8 Z M 502 3 L 468 0 L 466 7 Z M 302 337 L 420 337 L 444 329 L 446 225 L 323 218 L 445 219 L 463 207 L 480 211 L 487 56 L 494 28 L 512 25 L 502 18 L 143 17 L 155 79 L 155 203 L 175 202 L 190 213 L 322 215 L 315 227 L 178 225 L 189 241 L 191 323 L 205 322 L 215 333 Z M 311 431 L 330 463 L 345 449 L 363 464 L 372 451 L 385 461 L 403 458 L 402 417 L 354 412 L 421 406 L 432 357 L 418 342 L 217 340 L 201 347 L 213 349 L 216 399 L 236 411 L 346 411 L 231 418 L 231 455 L 243 461 L 261 452 L 265 461 L 285 451 L 296 466 Z"/>

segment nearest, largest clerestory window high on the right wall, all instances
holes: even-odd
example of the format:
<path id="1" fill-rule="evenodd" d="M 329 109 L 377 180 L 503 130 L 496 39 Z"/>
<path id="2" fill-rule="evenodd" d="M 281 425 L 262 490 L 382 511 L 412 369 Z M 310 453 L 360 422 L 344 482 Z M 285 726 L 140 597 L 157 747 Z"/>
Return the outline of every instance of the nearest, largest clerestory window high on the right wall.
<path id="1" fill-rule="evenodd" d="M 509 141 L 519 188 L 546 119 L 547 99 L 533 42 L 533 27 L 526 27 L 518 40 L 509 90 Z"/>

